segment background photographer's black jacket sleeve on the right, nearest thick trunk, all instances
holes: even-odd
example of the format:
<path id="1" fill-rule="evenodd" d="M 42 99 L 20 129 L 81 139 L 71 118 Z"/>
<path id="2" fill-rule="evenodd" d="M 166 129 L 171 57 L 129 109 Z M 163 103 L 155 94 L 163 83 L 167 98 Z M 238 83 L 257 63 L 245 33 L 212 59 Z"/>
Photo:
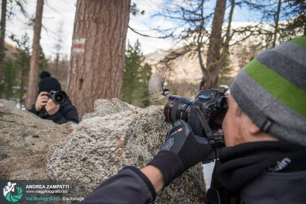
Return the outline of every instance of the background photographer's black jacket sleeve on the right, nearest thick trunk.
<path id="1" fill-rule="evenodd" d="M 61 112 L 58 111 L 55 114 L 50 115 L 50 118 L 53 122 L 58 124 L 63 124 L 69 121 L 79 123 L 78 111 L 74 106 L 70 106 L 64 115 L 62 115 Z"/>

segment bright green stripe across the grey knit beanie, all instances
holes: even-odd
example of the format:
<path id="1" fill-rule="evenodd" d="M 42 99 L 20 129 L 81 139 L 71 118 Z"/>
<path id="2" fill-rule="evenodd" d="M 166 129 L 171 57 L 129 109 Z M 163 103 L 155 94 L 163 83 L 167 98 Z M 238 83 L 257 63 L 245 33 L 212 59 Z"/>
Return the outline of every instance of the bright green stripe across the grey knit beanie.
<path id="1" fill-rule="evenodd" d="M 306 117 L 306 93 L 303 90 L 256 59 L 247 64 L 244 70 L 271 95 Z"/>

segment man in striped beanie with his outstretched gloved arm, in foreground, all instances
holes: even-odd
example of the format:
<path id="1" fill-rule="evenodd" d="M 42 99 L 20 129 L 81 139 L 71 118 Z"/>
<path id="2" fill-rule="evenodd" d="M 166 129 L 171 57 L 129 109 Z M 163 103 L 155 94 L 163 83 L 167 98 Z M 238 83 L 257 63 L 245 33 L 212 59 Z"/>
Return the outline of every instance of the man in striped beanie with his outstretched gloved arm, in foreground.
<path id="1" fill-rule="evenodd" d="M 206 203 L 306 202 L 305 79 L 306 36 L 262 52 L 239 71 L 222 122 L 226 147 Z M 150 203 L 212 151 L 177 120 L 147 166 L 124 167 L 80 203 Z"/>

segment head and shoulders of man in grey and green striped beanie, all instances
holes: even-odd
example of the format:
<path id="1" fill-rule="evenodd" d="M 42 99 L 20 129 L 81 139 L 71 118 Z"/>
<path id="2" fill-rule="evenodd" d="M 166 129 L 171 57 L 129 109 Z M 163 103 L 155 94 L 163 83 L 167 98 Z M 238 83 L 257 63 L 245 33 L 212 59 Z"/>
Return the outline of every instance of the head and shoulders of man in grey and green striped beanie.
<path id="1" fill-rule="evenodd" d="M 262 52 L 230 91 L 215 182 L 243 203 L 305 203 L 306 36 Z"/>

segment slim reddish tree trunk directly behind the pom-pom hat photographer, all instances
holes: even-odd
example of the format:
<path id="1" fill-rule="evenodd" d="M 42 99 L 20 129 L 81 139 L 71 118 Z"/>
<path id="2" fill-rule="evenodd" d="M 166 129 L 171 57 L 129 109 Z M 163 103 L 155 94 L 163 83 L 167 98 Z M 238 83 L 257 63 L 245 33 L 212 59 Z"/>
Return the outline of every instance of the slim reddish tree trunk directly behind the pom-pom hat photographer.
<path id="1" fill-rule="evenodd" d="M 36 100 L 42 10 L 43 10 L 43 0 L 37 0 L 36 16 L 34 20 L 33 52 L 30 60 L 29 85 L 27 91 L 27 104 L 26 104 L 27 109 L 30 109 L 31 105 L 34 104 Z"/>

